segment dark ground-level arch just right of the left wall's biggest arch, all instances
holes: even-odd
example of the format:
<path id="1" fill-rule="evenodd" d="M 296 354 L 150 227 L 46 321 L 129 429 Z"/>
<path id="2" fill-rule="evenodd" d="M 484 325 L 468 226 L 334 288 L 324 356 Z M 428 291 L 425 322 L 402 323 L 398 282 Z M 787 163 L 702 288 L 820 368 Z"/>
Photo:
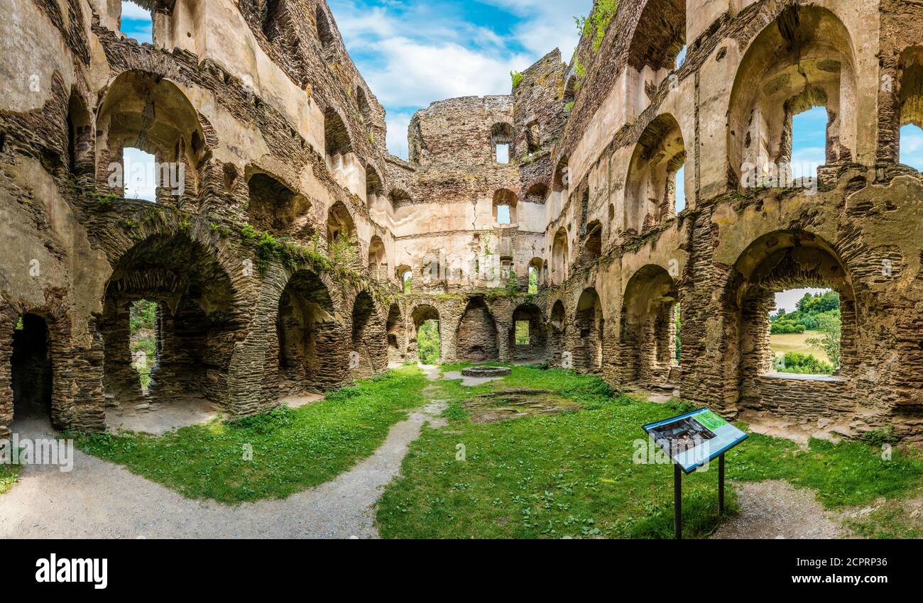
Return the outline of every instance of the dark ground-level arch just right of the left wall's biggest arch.
<path id="1" fill-rule="evenodd" d="M 311 270 L 298 270 L 285 282 L 276 322 L 280 396 L 328 391 L 347 378 L 349 339 L 337 301 Z"/>

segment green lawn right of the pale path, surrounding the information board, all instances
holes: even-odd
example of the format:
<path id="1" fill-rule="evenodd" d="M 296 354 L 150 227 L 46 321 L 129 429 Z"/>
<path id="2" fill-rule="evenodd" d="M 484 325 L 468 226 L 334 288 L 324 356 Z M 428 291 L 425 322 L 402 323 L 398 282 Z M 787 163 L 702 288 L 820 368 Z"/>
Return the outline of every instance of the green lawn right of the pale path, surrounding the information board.
<path id="1" fill-rule="evenodd" d="M 638 402 L 615 395 L 596 377 L 533 367 L 514 367 L 501 382 L 473 388 L 444 383 L 437 396 L 450 400 L 450 424 L 425 430 L 411 445 L 402 477 L 378 501 L 383 537 L 672 538 L 672 467 L 636 464 L 633 456 L 636 445 L 647 443 L 641 424 L 688 405 Z M 516 386 L 559 392 L 583 409 L 493 423 L 468 419 L 465 399 Z M 752 434 L 726 458 L 728 479 L 787 479 L 817 489 L 829 508 L 905 497 L 923 480 L 923 456 L 916 449 L 895 447 L 886 461 L 880 448 L 859 442 L 812 440 L 800 450 L 796 443 Z M 733 489 L 727 495 L 727 512 L 734 513 Z M 707 536 L 718 521 L 713 464 L 683 479 L 684 536 Z M 881 522 L 863 524 L 869 536 L 898 532 L 887 518 Z"/>

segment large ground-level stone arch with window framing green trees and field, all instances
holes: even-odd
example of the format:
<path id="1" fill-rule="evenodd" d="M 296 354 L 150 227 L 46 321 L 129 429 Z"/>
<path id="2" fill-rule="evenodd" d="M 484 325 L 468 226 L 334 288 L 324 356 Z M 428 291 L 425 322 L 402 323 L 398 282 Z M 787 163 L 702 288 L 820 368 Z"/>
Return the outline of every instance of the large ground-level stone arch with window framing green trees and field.
<path id="1" fill-rule="evenodd" d="M 739 388 L 725 399 L 734 396 L 738 408 L 772 398 L 773 412 L 784 416 L 834 396 L 856 376 L 852 279 L 820 237 L 776 231 L 751 243 L 730 274 L 724 304 L 725 383 Z"/>

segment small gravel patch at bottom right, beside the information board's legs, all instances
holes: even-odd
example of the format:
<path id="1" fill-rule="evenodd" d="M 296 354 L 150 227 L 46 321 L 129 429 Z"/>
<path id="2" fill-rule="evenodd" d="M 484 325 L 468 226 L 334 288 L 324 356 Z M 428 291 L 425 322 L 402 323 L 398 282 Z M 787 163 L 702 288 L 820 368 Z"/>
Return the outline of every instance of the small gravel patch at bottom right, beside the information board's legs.
<path id="1" fill-rule="evenodd" d="M 718 527 L 712 538 L 847 538 L 839 518 L 823 508 L 808 488 L 787 481 L 735 484 L 737 514 Z"/>

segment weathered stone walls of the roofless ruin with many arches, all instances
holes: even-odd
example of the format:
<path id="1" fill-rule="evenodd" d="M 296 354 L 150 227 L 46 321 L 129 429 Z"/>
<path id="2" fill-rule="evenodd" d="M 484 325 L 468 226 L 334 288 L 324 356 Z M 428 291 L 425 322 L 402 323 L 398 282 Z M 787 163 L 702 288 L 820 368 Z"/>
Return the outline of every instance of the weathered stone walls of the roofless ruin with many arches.
<path id="1" fill-rule="evenodd" d="M 923 124 L 919 3 L 623 0 L 569 65 L 418 112 L 407 161 L 326 3 L 141 2 L 152 45 L 119 4 L 0 3 L 0 433 L 19 403 L 101 430 L 137 401 L 127 308 L 148 299 L 149 396 L 233 416 L 413 360 L 435 319 L 445 361 L 570 361 L 727 417 L 923 437 L 923 178 L 897 163 Z M 817 194 L 745 187 L 817 105 Z M 182 194 L 120 198 L 124 148 L 182 164 Z M 772 373 L 766 310 L 795 287 L 840 293 L 833 377 Z"/>

